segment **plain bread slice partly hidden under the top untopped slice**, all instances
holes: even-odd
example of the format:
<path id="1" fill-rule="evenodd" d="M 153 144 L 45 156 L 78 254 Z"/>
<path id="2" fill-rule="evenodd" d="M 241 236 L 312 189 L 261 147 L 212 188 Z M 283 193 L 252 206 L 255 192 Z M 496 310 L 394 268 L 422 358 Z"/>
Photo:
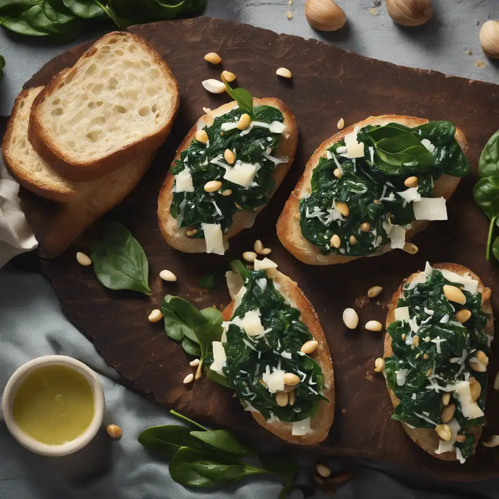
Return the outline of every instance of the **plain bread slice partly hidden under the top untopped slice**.
<path id="1" fill-rule="evenodd" d="M 42 89 L 28 88 L 15 99 L 3 136 L 3 160 L 17 182 L 29 191 L 53 201 L 68 202 L 78 197 L 79 183 L 61 177 L 27 138 L 31 104 Z"/>

